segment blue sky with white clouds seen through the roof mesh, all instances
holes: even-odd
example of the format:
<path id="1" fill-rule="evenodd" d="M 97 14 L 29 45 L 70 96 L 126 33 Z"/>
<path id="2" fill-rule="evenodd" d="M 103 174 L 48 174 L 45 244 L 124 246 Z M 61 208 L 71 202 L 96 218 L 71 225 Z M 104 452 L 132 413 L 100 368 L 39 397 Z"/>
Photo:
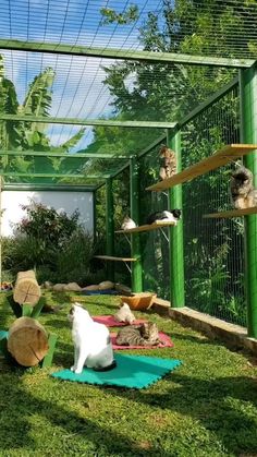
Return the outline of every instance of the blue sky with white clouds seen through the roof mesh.
<path id="1" fill-rule="evenodd" d="M 137 4 L 140 12 L 136 23 L 102 25 L 101 8 L 123 12 L 130 4 Z M 0 9 L 1 39 L 138 49 L 138 27 L 148 11 L 161 9 L 161 1 L 0 0 Z M 56 72 L 51 116 L 97 119 L 111 115 L 112 98 L 102 84 L 105 71 L 101 65 L 114 61 L 22 51 L 0 50 L 0 53 L 4 56 L 5 75 L 15 84 L 20 103 L 34 77 L 51 67 Z M 52 144 L 57 145 L 76 131 L 75 128 L 54 125 L 49 134 Z M 91 129 L 87 129 L 79 147 L 85 147 L 91 140 Z"/>

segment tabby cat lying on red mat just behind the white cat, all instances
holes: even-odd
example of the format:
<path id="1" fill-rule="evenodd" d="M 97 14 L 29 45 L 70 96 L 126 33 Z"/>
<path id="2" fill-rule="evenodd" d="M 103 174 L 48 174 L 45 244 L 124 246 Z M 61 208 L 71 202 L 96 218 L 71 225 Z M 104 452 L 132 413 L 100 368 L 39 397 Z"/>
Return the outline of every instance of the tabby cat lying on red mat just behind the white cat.
<path id="1" fill-rule="evenodd" d="M 117 344 L 120 346 L 155 346 L 159 342 L 158 327 L 154 322 L 123 327 L 117 335 Z"/>

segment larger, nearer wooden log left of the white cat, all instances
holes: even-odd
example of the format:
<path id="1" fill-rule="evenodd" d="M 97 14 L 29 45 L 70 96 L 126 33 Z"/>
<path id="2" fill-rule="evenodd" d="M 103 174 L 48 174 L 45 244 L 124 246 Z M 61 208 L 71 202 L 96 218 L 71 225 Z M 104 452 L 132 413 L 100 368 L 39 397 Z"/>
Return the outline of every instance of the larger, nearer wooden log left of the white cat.
<path id="1" fill-rule="evenodd" d="M 32 317 L 19 317 L 10 327 L 8 350 L 23 366 L 35 366 L 49 349 L 47 332 Z"/>

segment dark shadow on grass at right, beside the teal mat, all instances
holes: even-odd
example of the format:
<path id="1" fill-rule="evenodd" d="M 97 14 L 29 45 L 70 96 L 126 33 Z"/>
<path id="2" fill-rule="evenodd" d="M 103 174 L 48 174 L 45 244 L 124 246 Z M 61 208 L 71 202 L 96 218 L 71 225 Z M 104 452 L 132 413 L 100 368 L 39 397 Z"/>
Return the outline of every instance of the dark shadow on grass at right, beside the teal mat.
<path id="1" fill-rule="evenodd" d="M 256 453 L 256 418 L 250 406 L 257 407 L 257 378 L 241 376 L 205 381 L 173 372 L 166 380 L 179 388 L 170 388 L 164 394 L 140 390 L 140 395 L 113 389 L 113 394 L 163 411 L 170 409 L 185 417 L 191 416 L 213 433 L 233 455 Z"/>

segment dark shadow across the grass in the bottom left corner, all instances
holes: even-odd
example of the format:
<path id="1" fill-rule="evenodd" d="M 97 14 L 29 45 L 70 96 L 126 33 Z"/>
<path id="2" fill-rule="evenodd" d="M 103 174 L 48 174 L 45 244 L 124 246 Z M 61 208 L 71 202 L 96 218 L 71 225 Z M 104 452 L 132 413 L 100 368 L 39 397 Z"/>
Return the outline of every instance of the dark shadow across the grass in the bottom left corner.
<path id="1" fill-rule="evenodd" d="M 1 418 L 0 418 L 0 446 L 1 452 L 9 452 L 8 455 L 15 455 L 16 452 L 24 453 L 36 452 L 37 443 L 33 438 L 33 425 L 29 418 L 33 416 L 39 416 L 45 421 L 52 424 L 54 428 L 61 428 L 63 435 L 69 434 L 69 448 L 72 454 L 72 447 L 75 445 L 81 447 L 79 452 L 88 449 L 94 455 L 136 455 L 136 456 L 157 456 L 160 455 L 160 448 L 150 447 L 150 449 L 144 450 L 130 438 L 128 434 L 119 433 L 119 431 L 111 430 L 108 424 L 101 426 L 96 421 L 81 416 L 77 412 L 71 411 L 69 407 L 60 406 L 54 404 L 54 400 L 42 400 L 28 394 L 22 385 L 22 375 L 14 374 L 14 378 L 11 381 L 11 375 L 2 376 L 0 386 L 4 387 L 4 398 L 1 400 Z M 5 382 L 4 382 L 5 378 Z M 7 382 L 9 378 L 9 382 Z M 1 392 L 3 389 L 1 388 Z M 39 419 L 40 421 L 40 419 Z M 73 436 L 74 435 L 74 436 Z M 54 436 L 54 434 L 53 434 Z M 54 440 L 54 437 L 52 438 Z M 72 437 L 74 440 L 72 443 Z M 84 440 L 77 443 L 77 438 Z M 47 435 L 47 432 L 42 430 L 42 440 L 50 442 L 51 452 L 54 444 L 51 443 L 51 436 Z M 56 440 L 57 442 L 57 440 Z M 57 446 L 57 444 L 56 444 Z M 49 452 L 49 443 L 46 443 L 46 449 Z M 76 450 L 77 452 L 77 450 Z M 78 452 L 78 455 L 79 455 Z M 133 454 L 133 452 L 135 454 Z M 132 453 L 132 454 L 131 454 Z M 5 454 L 4 454 L 5 455 Z M 50 454 L 49 454 L 50 455 Z M 52 454 L 56 455 L 56 454 Z M 68 455 L 64 453 L 62 455 Z M 76 454 L 77 455 L 77 454 Z M 85 455 L 85 454 L 83 454 Z M 93 455 L 93 454 L 88 454 Z M 170 454 L 161 452 L 161 456 L 170 457 Z"/>

